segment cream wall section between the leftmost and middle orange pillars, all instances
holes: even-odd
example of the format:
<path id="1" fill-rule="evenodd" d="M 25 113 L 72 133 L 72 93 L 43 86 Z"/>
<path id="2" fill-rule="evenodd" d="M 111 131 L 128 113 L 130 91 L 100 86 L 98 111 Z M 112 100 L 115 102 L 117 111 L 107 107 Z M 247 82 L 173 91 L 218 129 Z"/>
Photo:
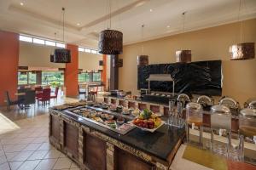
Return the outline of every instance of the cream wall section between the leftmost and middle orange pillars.
<path id="1" fill-rule="evenodd" d="M 49 61 L 49 55 L 53 53 L 54 49 L 55 47 L 20 41 L 19 65 L 64 68 L 65 64 Z"/>

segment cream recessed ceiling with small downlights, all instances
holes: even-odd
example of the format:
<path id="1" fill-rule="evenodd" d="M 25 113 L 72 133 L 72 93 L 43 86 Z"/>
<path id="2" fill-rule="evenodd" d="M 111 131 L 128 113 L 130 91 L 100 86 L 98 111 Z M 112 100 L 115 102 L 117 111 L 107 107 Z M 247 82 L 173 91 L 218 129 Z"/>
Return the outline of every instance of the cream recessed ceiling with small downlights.
<path id="1" fill-rule="evenodd" d="M 50 39 L 56 32 L 62 41 L 62 7 L 64 41 L 91 48 L 110 25 L 109 11 L 125 44 L 183 32 L 184 11 L 185 31 L 256 18 L 255 0 L 241 0 L 240 17 L 239 0 L 0 0 L 0 29 Z"/>

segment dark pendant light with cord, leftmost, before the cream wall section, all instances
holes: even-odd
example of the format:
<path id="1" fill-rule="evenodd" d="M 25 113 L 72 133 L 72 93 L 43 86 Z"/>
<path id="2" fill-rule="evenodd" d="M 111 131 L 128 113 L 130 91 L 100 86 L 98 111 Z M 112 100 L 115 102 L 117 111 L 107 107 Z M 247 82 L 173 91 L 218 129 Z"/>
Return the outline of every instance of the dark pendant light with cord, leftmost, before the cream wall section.
<path id="1" fill-rule="evenodd" d="M 62 8 L 62 14 L 63 14 L 63 42 L 64 42 L 64 14 L 65 14 L 65 8 Z M 55 48 L 55 53 L 50 55 L 50 62 L 53 63 L 70 63 L 71 62 L 71 54 L 70 50 L 66 48 Z"/>

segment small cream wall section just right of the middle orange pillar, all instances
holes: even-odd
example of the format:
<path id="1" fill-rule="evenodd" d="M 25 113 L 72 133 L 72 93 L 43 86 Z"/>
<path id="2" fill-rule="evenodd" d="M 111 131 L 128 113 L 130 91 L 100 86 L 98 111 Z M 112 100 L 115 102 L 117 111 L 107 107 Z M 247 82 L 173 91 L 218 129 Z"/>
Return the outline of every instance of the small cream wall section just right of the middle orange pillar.
<path id="1" fill-rule="evenodd" d="M 79 52 L 79 69 L 86 71 L 102 70 L 99 61 L 102 60 L 102 54 L 90 54 Z"/>

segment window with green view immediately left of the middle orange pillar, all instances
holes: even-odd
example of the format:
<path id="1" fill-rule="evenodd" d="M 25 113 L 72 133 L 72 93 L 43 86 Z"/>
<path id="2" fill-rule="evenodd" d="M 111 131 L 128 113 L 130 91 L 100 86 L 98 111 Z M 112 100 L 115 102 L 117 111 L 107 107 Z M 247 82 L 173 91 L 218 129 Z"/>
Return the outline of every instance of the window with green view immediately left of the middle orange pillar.
<path id="1" fill-rule="evenodd" d="M 42 84 L 61 86 L 64 83 L 64 76 L 62 71 L 42 71 Z"/>

